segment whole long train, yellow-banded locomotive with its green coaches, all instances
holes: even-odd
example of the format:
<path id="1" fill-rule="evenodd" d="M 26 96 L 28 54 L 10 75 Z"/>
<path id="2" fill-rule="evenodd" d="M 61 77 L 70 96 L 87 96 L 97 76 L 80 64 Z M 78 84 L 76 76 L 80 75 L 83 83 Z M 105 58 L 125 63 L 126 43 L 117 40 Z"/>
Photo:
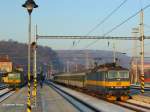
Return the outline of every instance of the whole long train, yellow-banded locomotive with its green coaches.
<path id="1" fill-rule="evenodd" d="M 82 73 L 61 73 L 54 82 L 99 94 L 108 100 L 127 100 L 130 90 L 129 70 L 115 63 L 99 65 Z"/>

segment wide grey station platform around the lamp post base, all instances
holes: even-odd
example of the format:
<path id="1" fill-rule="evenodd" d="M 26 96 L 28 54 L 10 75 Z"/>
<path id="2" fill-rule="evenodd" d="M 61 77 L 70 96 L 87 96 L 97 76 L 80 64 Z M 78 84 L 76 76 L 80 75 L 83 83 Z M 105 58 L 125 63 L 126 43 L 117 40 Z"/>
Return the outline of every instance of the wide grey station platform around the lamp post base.
<path id="1" fill-rule="evenodd" d="M 47 85 L 38 86 L 36 105 L 32 102 L 32 112 L 78 112 L 78 110 Z M 0 112 L 26 112 L 27 87 L 24 87 L 0 103 Z"/>

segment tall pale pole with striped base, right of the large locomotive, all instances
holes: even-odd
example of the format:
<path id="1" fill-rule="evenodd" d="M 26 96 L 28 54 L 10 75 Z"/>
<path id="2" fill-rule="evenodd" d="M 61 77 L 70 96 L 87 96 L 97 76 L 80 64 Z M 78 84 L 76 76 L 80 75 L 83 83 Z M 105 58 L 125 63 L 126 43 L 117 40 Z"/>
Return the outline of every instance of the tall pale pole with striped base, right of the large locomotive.
<path id="1" fill-rule="evenodd" d="M 143 9 L 141 9 L 140 13 L 140 42 L 141 42 L 141 93 L 144 93 L 144 14 Z"/>

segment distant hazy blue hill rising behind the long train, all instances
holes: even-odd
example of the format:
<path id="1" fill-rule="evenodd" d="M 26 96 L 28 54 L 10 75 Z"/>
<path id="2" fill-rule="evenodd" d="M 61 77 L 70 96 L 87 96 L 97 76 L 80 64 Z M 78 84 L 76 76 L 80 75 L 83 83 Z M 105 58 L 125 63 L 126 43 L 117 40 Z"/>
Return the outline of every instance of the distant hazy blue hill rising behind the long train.
<path id="1" fill-rule="evenodd" d="M 113 62 L 113 52 L 104 50 L 56 50 L 59 58 L 65 65 L 65 70 L 69 66 L 70 70 L 74 71 L 78 66 L 78 69 L 85 69 L 93 67 L 94 63 L 103 64 L 107 62 Z M 120 52 L 116 53 L 117 63 L 129 68 L 130 57 Z M 68 64 L 68 65 L 67 65 Z M 76 65 L 75 65 L 76 64 Z"/>

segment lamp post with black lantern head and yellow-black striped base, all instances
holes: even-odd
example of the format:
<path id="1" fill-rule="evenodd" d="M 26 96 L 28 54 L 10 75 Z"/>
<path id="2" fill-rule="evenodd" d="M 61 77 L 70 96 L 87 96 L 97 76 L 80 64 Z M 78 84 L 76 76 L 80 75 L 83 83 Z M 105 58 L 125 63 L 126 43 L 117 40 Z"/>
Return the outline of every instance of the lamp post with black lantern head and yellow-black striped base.
<path id="1" fill-rule="evenodd" d="M 30 99 L 30 52 L 31 52 L 31 13 L 34 8 L 37 8 L 38 5 L 34 0 L 27 0 L 22 7 L 26 8 L 29 13 L 29 42 L 28 42 L 28 96 L 27 96 L 27 112 L 31 112 L 31 99 Z"/>

